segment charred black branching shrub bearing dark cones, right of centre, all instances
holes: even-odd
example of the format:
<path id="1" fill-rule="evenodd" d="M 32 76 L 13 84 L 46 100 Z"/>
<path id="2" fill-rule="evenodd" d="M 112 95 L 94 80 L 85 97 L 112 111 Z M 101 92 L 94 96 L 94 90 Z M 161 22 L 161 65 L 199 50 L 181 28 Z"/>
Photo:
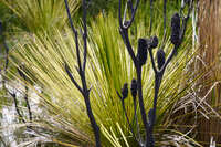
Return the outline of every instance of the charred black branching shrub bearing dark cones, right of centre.
<path id="1" fill-rule="evenodd" d="M 169 56 L 166 59 L 164 48 L 159 48 L 159 50 L 157 51 L 158 67 L 156 67 L 152 49 L 158 46 L 158 38 L 151 36 L 150 39 L 144 39 L 144 38 L 138 39 L 138 53 L 137 53 L 137 55 L 135 55 L 134 49 L 131 46 L 131 43 L 130 43 L 130 40 L 128 36 L 128 29 L 131 25 L 131 23 L 134 22 L 134 19 L 136 15 L 136 10 L 139 4 L 139 0 L 136 0 L 135 8 L 133 8 L 131 6 L 129 8 L 126 7 L 126 9 L 133 9 L 131 18 L 129 20 L 126 20 L 126 19 L 122 20 L 122 0 L 119 0 L 119 6 L 118 6 L 119 7 L 118 8 L 119 32 L 120 32 L 120 35 L 124 40 L 126 49 L 133 60 L 135 69 L 136 69 L 136 75 L 137 75 L 136 85 L 137 85 L 137 92 L 138 92 L 138 102 L 139 102 L 139 108 L 140 108 L 140 113 L 141 113 L 143 124 L 145 127 L 145 141 L 143 141 L 143 139 L 140 137 L 141 135 L 139 132 L 138 123 L 136 123 L 137 132 L 139 133 L 138 144 L 140 147 L 154 147 L 155 146 L 154 125 L 156 123 L 157 99 L 158 99 L 161 80 L 164 77 L 164 73 L 165 73 L 167 65 L 172 60 L 172 57 L 176 55 L 177 50 L 183 40 L 186 28 L 187 28 L 187 21 L 189 19 L 190 11 L 192 9 L 192 2 L 193 2 L 193 0 L 190 0 L 190 2 L 187 4 L 189 8 L 187 17 L 181 15 L 182 17 L 182 25 L 181 27 L 180 27 L 180 22 L 179 22 L 180 14 L 177 13 L 172 17 L 172 19 L 171 19 L 171 30 L 172 31 L 171 31 L 170 41 L 173 44 L 173 50 L 169 54 Z M 164 38 L 166 35 L 166 3 L 167 3 L 167 0 L 164 0 Z M 152 0 L 150 0 L 150 11 L 152 11 L 151 9 L 152 9 Z M 180 9 L 180 13 L 181 14 L 183 13 L 182 7 Z M 123 15 L 124 15 L 124 18 L 126 18 L 125 17 L 126 11 Z M 150 31 L 149 32 L 151 32 L 151 23 L 152 23 L 152 20 L 151 20 L 151 15 L 150 15 Z M 125 25 L 125 24 L 127 24 L 127 25 Z M 165 46 L 164 43 L 165 43 L 165 39 L 162 40 L 162 46 Z M 148 112 L 148 120 L 147 120 L 147 115 L 146 115 L 145 105 L 144 105 L 144 97 L 143 97 L 141 70 L 143 70 L 143 66 L 146 64 L 148 52 L 150 55 L 152 70 L 155 72 L 155 95 L 154 95 L 154 106 Z M 135 115 L 137 115 L 137 113 L 136 113 L 137 105 L 136 105 L 136 96 L 135 96 L 134 88 L 131 88 L 131 95 L 133 95 L 133 99 L 134 99 Z M 125 105 L 125 104 L 123 103 L 123 105 Z M 125 106 L 123 106 L 123 107 L 125 107 Z M 125 108 L 124 108 L 124 111 L 125 111 Z M 137 116 L 135 116 L 135 117 L 137 119 Z M 128 119 L 128 117 L 127 117 L 127 119 Z M 127 122 L 129 123 L 129 120 L 127 120 Z M 130 127 L 130 129 L 133 129 L 133 128 Z M 134 135 L 134 137 L 137 138 L 137 136 L 135 136 L 135 135 Z"/>

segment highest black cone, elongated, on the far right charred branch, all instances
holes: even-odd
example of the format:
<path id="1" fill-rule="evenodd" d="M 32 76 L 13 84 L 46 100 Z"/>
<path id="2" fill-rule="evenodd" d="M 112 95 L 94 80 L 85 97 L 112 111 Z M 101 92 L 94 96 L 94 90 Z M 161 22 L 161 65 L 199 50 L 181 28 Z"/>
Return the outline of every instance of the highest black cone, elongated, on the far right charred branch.
<path id="1" fill-rule="evenodd" d="M 180 35 L 180 17 L 178 13 L 175 13 L 171 18 L 170 41 L 172 44 L 177 45 L 179 43 L 179 35 Z"/>

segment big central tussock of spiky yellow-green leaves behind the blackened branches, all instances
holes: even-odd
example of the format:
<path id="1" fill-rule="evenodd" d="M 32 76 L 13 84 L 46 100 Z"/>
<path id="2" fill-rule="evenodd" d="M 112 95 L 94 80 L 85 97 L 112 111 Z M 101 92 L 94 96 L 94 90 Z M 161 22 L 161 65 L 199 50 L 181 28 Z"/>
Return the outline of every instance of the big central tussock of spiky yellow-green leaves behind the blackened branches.
<path id="1" fill-rule="evenodd" d="M 139 8 L 138 1 L 136 7 Z M 136 11 L 130 12 L 133 12 L 131 17 L 135 17 Z M 31 124 L 34 126 L 32 127 L 34 134 L 32 133 L 32 135 L 34 137 L 41 135 L 45 141 L 56 143 L 61 146 L 99 146 L 99 140 L 102 146 L 152 146 L 149 141 L 152 138 L 155 138 L 155 146 L 168 144 L 200 146 L 193 139 L 182 136 L 181 132 L 172 129 L 172 122 L 176 119 L 171 117 L 175 104 L 186 94 L 191 82 L 188 81 L 185 87 L 180 86 L 181 82 L 189 80 L 189 76 L 183 74 L 188 61 L 186 59 L 187 51 L 180 50 L 176 60 L 172 60 L 170 64 L 168 63 L 175 53 L 169 55 L 168 52 L 175 52 L 178 46 L 189 48 L 186 41 L 180 45 L 183 39 L 182 34 L 185 34 L 182 29 L 186 27 L 186 18 L 182 18 L 179 38 L 172 33 L 172 38 L 176 38 L 177 41 L 171 38 L 172 43 L 170 43 L 169 38 L 166 38 L 164 45 L 159 42 L 160 46 L 167 51 L 165 53 L 162 50 L 150 50 L 150 46 L 156 45 L 149 44 L 156 41 L 156 36 L 162 35 L 159 33 L 161 24 L 155 30 L 152 28 L 151 32 L 156 33 L 155 38 L 146 39 L 144 36 L 149 35 L 149 29 L 146 29 L 144 23 L 137 24 L 138 31 L 134 32 L 128 29 L 133 20 L 129 21 L 130 23 L 123 23 L 122 20 L 119 21 L 122 33 L 119 33 L 119 22 L 112 14 L 97 15 L 88 29 L 85 18 L 84 13 L 83 31 L 78 32 L 83 38 L 78 38 L 78 40 L 76 39 L 76 28 L 65 27 L 62 31 L 53 28 L 51 30 L 53 35 L 45 32 L 28 36 L 25 42 L 19 42 L 14 46 L 15 50 L 11 52 L 11 63 L 18 69 L 21 67 L 20 63 L 23 63 L 25 70 L 20 70 L 29 78 L 29 82 L 17 76 L 18 73 L 13 70 L 9 71 L 9 76 L 27 83 L 30 90 L 38 93 L 39 105 L 44 112 L 43 115 L 33 114 Z M 173 32 L 176 31 L 173 30 Z M 127 42 L 129 38 L 134 41 Z M 78 44 L 76 45 L 76 43 Z M 140 49 L 143 46 L 144 50 Z M 129 54 L 128 48 L 133 49 L 129 49 Z M 149 52 L 150 59 L 144 57 L 145 54 L 135 55 L 136 52 L 146 54 Z M 155 53 L 157 53 L 160 69 L 155 65 Z M 130 55 L 134 56 L 134 60 Z M 164 60 L 166 56 L 169 60 Z M 144 57 L 144 64 L 140 64 L 141 57 Z M 83 60 L 81 61 L 81 59 Z M 160 64 L 164 61 L 165 63 Z M 152 71 L 151 64 L 145 64 L 146 62 L 152 63 L 155 70 Z M 165 70 L 166 65 L 167 70 Z M 161 80 L 162 74 L 164 80 Z M 137 80 L 135 80 L 136 76 Z M 119 92 L 122 85 L 128 81 L 133 81 L 131 95 L 126 94 L 126 84 L 123 93 L 117 94 L 116 91 Z M 155 90 L 159 88 L 159 84 L 161 88 L 156 93 Z M 42 92 L 35 91 L 35 85 L 40 86 Z M 138 103 L 136 102 L 136 90 L 138 90 Z M 124 98 L 120 99 L 122 96 Z M 155 104 L 154 108 L 152 103 Z M 143 112 L 139 111 L 140 108 Z M 144 111 L 152 112 L 149 117 L 152 119 L 146 120 L 147 124 L 144 122 Z M 92 115 L 90 114 L 92 112 L 99 127 L 99 137 L 96 136 L 97 128 L 92 129 L 92 126 L 96 126 L 91 124 L 93 118 L 88 119 L 87 116 L 87 114 Z M 42 128 L 43 132 L 40 133 Z M 182 136 L 182 139 L 176 143 L 172 138 L 179 136 Z M 138 141 L 137 138 L 139 138 Z M 36 140 L 33 139 L 33 141 Z"/>

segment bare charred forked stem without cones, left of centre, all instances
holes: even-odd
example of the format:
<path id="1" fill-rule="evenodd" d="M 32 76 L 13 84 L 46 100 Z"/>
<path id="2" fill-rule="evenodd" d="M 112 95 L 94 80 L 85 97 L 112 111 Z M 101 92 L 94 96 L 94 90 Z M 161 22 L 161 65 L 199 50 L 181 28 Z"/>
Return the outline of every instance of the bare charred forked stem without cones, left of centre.
<path id="1" fill-rule="evenodd" d="M 67 66 L 67 64 L 65 64 L 65 71 L 66 71 L 69 77 L 71 78 L 71 81 L 73 82 L 73 84 L 76 86 L 76 88 L 81 92 L 81 94 L 84 97 L 87 116 L 90 118 L 90 123 L 92 125 L 92 128 L 93 128 L 93 132 L 94 132 L 94 135 L 95 135 L 96 147 L 101 147 L 102 145 L 101 145 L 101 137 L 99 137 L 99 127 L 96 124 L 95 117 L 94 117 L 93 112 L 92 112 L 91 102 L 90 102 L 90 88 L 87 88 L 86 77 L 85 77 L 86 55 L 87 55 L 86 1 L 85 0 L 82 1 L 82 4 L 83 4 L 83 28 L 84 28 L 84 32 L 83 32 L 83 42 L 84 42 L 83 66 L 82 66 L 81 56 L 80 56 L 80 45 L 78 45 L 77 31 L 75 30 L 73 22 L 72 22 L 67 0 L 64 0 L 64 2 L 65 2 L 66 12 L 67 12 L 67 15 L 69 15 L 70 24 L 71 24 L 72 31 L 75 35 L 76 55 L 77 55 L 77 64 L 78 64 L 77 65 L 77 72 L 78 72 L 80 77 L 81 77 L 82 86 L 80 86 L 80 84 L 72 76 L 72 74 L 70 72 L 70 67 Z"/>

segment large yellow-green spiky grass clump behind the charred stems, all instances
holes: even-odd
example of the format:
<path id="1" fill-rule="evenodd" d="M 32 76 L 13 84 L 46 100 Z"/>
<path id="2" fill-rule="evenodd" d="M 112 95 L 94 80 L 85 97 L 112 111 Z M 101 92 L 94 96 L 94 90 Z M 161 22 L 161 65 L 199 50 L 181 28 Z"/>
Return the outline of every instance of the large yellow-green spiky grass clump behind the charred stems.
<path id="1" fill-rule="evenodd" d="M 140 36 L 146 36 L 145 32 L 145 27 L 140 27 L 138 34 L 130 36 L 138 40 Z M 156 34 L 157 32 L 156 29 Z M 64 71 L 64 63 L 66 63 L 75 78 L 80 80 L 75 69 L 76 54 L 73 33 L 65 28 L 63 32 L 54 29 L 53 34 L 42 33 L 30 38 L 28 42 L 18 43 L 11 53 L 11 62 L 14 66 L 23 63 L 28 70 L 23 71 L 27 76 L 34 85 L 41 86 L 43 92 L 38 94 L 41 97 L 40 106 L 45 114 L 39 116 L 38 120 L 41 122 L 44 129 L 48 128 L 53 133 L 52 141 L 66 146 L 94 145 L 83 97 Z M 96 21 L 92 22 L 88 36 L 86 78 L 88 85 L 92 85 L 92 109 L 101 126 L 102 144 L 117 147 L 136 146 L 136 141 L 128 132 L 120 99 L 116 94 L 116 91 L 120 91 L 122 85 L 130 82 L 136 74 L 118 33 L 116 20 L 112 15 L 106 18 L 98 15 Z M 134 42 L 133 45 L 137 46 L 137 42 Z M 167 43 L 166 48 L 169 52 L 171 44 Z M 180 87 L 180 83 L 189 78 L 182 72 L 187 62 L 186 57 L 186 51 L 180 51 L 162 80 L 155 129 L 158 146 L 164 144 L 164 134 L 172 122 L 170 116 L 175 103 L 186 94 L 188 85 L 191 84 L 186 83 L 185 88 Z M 13 71 L 10 71 L 10 75 L 18 78 Z M 155 78 L 149 60 L 144 65 L 143 75 L 145 107 L 146 111 L 149 111 L 152 104 Z M 31 83 L 29 87 L 34 90 Z M 133 120 L 134 108 L 130 94 L 125 99 L 125 105 L 129 119 Z M 139 113 L 138 116 L 140 116 Z M 141 122 L 140 117 L 139 120 Z M 176 133 L 170 132 L 170 134 Z M 191 139 L 188 139 L 188 144 L 190 143 Z"/>

